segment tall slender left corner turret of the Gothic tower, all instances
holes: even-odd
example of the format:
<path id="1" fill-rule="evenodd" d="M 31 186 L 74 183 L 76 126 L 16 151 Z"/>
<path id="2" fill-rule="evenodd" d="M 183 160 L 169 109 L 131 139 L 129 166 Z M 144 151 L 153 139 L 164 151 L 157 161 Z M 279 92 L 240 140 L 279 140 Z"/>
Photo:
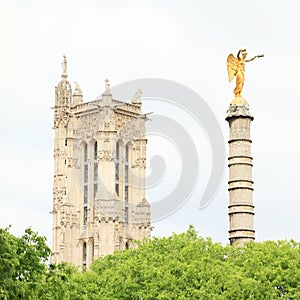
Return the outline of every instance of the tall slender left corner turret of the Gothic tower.
<path id="1" fill-rule="evenodd" d="M 54 178 L 53 178 L 53 251 L 52 262 L 58 262 L 68 255 L 66 235 L 70 226 L 65 224 L 65 216 L 74 209 L 68 204 L 68 161 L 71 143 L 68 143 L 68 124 L 72 118 L 72 89 L 67 80 L 67 59 L 64 55 L 61 80 L 55 87 L 54 106 Z M 75 216 L 75 213 L 72 213 Z"/>

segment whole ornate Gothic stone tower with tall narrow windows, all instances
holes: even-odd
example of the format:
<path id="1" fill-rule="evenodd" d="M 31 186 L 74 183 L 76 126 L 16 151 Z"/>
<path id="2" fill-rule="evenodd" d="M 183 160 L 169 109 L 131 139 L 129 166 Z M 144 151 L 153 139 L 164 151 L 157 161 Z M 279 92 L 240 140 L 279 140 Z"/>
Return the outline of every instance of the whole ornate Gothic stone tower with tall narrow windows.
<path id="1" fill-rule="evenodd" d="M 94 258 L 150 237 L 145 198 L 145 115 L 141 93 L 130 103 L 83 102 L 67 80 L 64 56 L 55 88 L 52 263 L 89 267 Z"/>

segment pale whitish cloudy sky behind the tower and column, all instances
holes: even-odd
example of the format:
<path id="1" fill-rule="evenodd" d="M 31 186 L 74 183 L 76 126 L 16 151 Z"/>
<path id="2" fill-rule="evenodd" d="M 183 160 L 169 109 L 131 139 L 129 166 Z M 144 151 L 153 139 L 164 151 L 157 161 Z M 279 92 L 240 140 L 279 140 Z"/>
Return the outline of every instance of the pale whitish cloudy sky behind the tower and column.
<path id="1" fill-rule="evenodd" d="M 233 99 L 226 59 L 241 48 L 265 58 L 246 65 L 243 96 L 250 104 L 254 157 L 256 240 L 300 240 L 300 4 L 298 1 L 0 1 L 2 98 L 0 226 L 22 234 L 32 228 L 51 244 L 54 87 L 62 56 L 69 80 L 84 101 L 139 78 L 181 83 L 200 95 L 216 116 L 227 149 L 226 110 Z M 130 99 L 123 99 L 129 101 Z M 144 111 L 181 122 L 198 151 L 199 179 L 174 214 L 154 222 L 153 235 L 183 232 L 228 242 L 228 170 L 213 201 L 199 209 L 212 156 L 191 116 L 160 101 Z M 167 166 L 149 202 L 172 191 L 180 174 L 176 145 L 149 136 L 148 162 Z M 226 154 L 227 155 L 227 154 Z M 149 171 L 150 168 L 148 168 Z M 151 170 L 150 170 L 151 172 Z"/>

